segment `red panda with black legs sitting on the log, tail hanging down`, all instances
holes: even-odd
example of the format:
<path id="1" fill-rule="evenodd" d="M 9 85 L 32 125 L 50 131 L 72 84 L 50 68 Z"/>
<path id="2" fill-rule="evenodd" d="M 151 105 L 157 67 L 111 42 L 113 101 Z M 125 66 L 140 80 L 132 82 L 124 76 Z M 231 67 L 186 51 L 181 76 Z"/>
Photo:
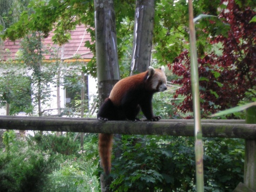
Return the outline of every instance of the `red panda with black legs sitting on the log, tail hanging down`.
<path id="1" fill-rule="evenodd" d="M 131 120 L 136 118 L 140 109 L 146 119 L 158 121 L 160 116 L 154 116 L 152 110 L 152 97 L 156 92 L 163 92 L 166 87 L 164 67 L 126 77 L 118 81 L 113 87 L 109 98 L 100 106 L 97 118 L 107 120 Z M 112 134 L 99 134 L 99 155 L 101 165 L 106 175 L 111 170 Z"/>

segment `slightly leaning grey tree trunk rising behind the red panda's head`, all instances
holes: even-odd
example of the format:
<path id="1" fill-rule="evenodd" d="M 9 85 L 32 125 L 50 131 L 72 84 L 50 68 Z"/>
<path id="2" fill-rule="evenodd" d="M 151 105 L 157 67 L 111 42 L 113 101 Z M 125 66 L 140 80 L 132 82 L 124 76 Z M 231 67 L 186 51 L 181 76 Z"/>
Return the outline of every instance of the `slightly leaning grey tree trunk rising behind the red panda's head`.
<path id="1" fill-rule="evenodd" d="M 154 14 L 154 0 L 136 1 L 130 76 L 144 72 L 150 66 Z"/>

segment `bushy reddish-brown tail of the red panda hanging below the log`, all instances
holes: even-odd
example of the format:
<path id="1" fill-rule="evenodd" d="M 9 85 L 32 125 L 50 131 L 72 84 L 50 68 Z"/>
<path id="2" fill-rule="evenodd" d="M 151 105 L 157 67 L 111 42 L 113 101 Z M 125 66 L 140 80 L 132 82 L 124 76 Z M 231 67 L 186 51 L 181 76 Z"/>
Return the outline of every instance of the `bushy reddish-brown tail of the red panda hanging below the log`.
<path id="1" fill-rule="evenodd" d="M 111 170 L 112 139 L 113 134 L 99 134 L 100 163 L 106 175 L 109 175 Z"/>

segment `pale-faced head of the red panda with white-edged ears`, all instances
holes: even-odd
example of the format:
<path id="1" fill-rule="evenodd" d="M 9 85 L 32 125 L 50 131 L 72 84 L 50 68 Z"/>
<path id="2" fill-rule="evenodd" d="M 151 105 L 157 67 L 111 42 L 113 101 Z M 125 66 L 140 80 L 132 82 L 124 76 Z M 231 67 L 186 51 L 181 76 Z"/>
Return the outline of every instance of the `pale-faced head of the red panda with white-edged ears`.
<path id="1" fill-rule="evenodd" d="M 157 92 L 163 92 L 167 89 L 166 87 L 166 76 L 164 73 L 164 67 L 160 69 L 154 69 L 153 67 L 148 67 L 147 79 L 151 84 L 151 89 Z"/>

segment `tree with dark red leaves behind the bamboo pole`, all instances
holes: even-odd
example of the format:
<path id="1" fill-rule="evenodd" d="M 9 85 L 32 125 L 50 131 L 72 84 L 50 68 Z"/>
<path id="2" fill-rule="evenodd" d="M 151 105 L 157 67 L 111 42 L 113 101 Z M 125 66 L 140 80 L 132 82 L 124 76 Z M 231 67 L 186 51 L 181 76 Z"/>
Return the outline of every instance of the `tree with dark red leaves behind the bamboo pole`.
<path id="1" fill-rule="evenodd" d="M 249 23 L 254 15 L 255 11 L 240 8 L 234 0 L 228 1 L 220 12 L 219 19 L 230 27 L 228 33 L 209 35 L 207 40 L 212 45 L 222 45 L 222 54 L 211 51 L 198 58 L 202 117 L 237 105 L 246 92 L 255 94 L 252 90 L 256 88 L 256 23 Z M 207 29 L 204 31 L 207 33 Z M 176 57 L 169 68 L 180 77 L 173 82 L 182 85 L 175 97 L 185 97 L 178 109 L 184 113 L 193 111 L 188 50 Z"/>

